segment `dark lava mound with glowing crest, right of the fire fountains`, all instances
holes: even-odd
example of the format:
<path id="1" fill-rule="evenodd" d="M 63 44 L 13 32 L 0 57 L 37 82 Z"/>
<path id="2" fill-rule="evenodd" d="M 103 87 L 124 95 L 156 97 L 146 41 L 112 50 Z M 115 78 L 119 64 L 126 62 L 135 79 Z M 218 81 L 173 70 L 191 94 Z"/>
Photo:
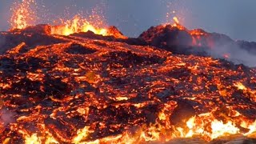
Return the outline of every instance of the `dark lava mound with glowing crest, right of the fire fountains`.
<path id="1" fill-rule="evenodd" d="M 158 46 L 177 54 L 200 54 L 214 46 L 222 46 L 234 41 L 224 34 L 207 33 L 202 29 L 187 30 L 184 26 L 152 26 L 149 30 L 140 34 L 142 38 L 152 46 Z M 204 54 L 207 55 L 207 54 Z"/>

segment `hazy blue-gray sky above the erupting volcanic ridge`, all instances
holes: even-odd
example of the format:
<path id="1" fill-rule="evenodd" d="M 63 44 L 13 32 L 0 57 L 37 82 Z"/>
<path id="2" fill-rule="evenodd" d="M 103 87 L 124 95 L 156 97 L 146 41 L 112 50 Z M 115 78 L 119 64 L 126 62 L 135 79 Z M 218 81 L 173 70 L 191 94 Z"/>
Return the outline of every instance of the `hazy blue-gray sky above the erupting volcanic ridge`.
<path id="1" fill-rule="evenodd" d="M 0 30 L 7 30 L 10 6 L 15 0 L 0 1 Z M 16 0 L 18 1 L 18 0 Z M 176 11 L 183 25 L 227 34 L 234 39 L 256 42 L 255 0 L 37 0 L 40 23 L 72 18 L 79 11 L 102 7 L 109 25 L 137 37 L 143 30 L 166 22 L 166 13 Z M 45 6 L 45 8 L 42 7 Z M 70 14 L 64 11 L 69 7 Z M 44 9 L 44 10 L 42 10 Z M 44 14 L 42 14 L 44 13 Z M 66 16 L 64 16 L 66 15 Z M 170 15 L 171 17 L 174 14 Z M 46 21 L 48 19 L 48 21 Z M 170 18 L 171 22 L 171 18 Z"/>

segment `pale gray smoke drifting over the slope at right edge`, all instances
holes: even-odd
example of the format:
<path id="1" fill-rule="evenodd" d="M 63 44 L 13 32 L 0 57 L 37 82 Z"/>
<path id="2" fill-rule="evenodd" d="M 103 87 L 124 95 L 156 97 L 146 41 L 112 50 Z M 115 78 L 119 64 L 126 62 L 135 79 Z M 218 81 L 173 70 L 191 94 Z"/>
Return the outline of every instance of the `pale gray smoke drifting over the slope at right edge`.
<path id="1" fill-rule="evenodd" d="M 175 35 L 178 41 L 174 38 L 168 38 L 171 42 L 178 44 L 180 47 L 190 45 L 190 34 L 187 34 L 186 31 L 178 30 L 178 34 L 172 34 Z M 194 46 L 192 50 L 190 48 L 186 50 L 189 50 L 190 54 L 224 58 L 237 65 L 243 64 L 249 67 L 256 67 L 256 42 L 234 41 L 225 34 L 211 33 L 208 35 L 202 36 L 202 39 L 199 40 L 202 48 Z M 210 46 L 209 41 L 213 42 L 214 45 Z M 186 50 L 182 50 L 183 54 L 186 54 Z"/>

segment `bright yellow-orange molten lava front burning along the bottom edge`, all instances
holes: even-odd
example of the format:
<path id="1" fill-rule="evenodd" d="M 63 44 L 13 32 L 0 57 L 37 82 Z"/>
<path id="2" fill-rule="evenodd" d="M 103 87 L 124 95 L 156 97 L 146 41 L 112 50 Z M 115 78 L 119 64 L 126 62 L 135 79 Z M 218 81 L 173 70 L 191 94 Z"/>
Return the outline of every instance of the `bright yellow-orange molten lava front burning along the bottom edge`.
<path id="1" fill-rule="evenodd" d="M 172 105 L 172 104 L 171 104 Z M 158 115 L 157 122 L 155 124 L 150 124 L 150 126 L 142 126 L 141 129 L 137 130 L 135 134 L 130 131 L 125 131 L 122 134 L 115 136 L 98 138 L 94 141 L 86 141 L 90 134 L 94 133 L 94 130 L 90 126 L 86 126 L 81 130 L 78 130 L 77 135 L 72 139 L 72 143 L 145 143 L 145 142 L 169 142 L 174 138 L 192 138 L 192 137 L 201 137 L 206 141 L 213 140 L 214 138 L 220 138 L 225 136 L 230 136 L 232 134 L 242 134 L 247 137 L 253 137 L 256 128 L 256 121 L 246 121 L 246 118 L 243 117 L 240 113 L 235 110 L 230 110 L 229 117 L 234 119 L 218 120 L 214 116 L 214 110 L 210 113 L 198 114 L 191 117 L 187 122 L 186 126 L 178 127 L 172 126 L 170 123 L 170 111 L 173 109 L 171 105 L 166 105 L 166 108 Z M 169 113 L 169 114 L 168 114 Z M 248 129 L 249 132 L 242 132 L 238 127 Z M 23 133 L 20 131 L 20 133 Z M 38 134 L 31 134 L 28 136 L 24 134 L 25 142 L 27 144 L 42 143 L 59 143 L 54 137 L 47 136 L 38 137 Z M 252 136 L 250 136 L 252 135 Z"/>

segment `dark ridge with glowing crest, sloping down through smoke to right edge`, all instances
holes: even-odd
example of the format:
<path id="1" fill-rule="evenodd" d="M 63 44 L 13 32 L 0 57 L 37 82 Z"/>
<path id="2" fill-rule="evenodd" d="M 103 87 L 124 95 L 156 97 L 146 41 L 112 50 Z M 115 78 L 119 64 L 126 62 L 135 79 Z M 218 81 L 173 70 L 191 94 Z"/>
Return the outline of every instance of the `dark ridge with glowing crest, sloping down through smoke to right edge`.
<path id="1" fill-rule="evenodd" d="M 208 33 L 201 29 L 187 30 L 176 25 L 152 26 L 139 39 L 174 54 L 225 58 L 237 64 L 256 66 L 256 42 L 234 41 L 225 34 Z"/>

